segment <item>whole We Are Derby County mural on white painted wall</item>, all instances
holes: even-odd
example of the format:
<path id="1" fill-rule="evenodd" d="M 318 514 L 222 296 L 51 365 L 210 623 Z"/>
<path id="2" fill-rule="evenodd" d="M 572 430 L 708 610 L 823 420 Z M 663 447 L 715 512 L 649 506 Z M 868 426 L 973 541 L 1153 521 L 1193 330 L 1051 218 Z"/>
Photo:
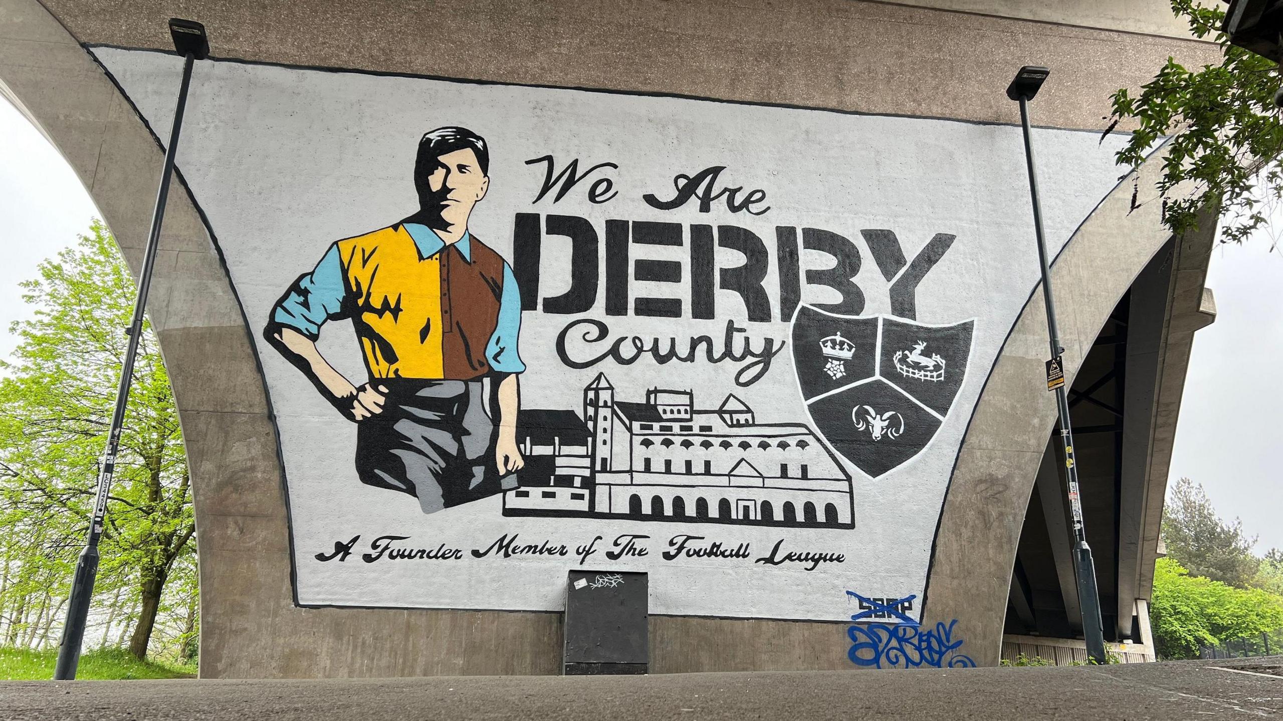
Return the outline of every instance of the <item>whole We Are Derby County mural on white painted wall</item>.
<path id="1" fill-rule="evenodd" d="M 168 127 L 181 63 L 94 53 Z M 556 611 L 591 567 L 654 613 L 916 618 L 1038 277 L 1017 128 L 237 62 L 189 112 L 298 603 Z M 1116 142 L 1039 131 L 1057 248 Z"/>

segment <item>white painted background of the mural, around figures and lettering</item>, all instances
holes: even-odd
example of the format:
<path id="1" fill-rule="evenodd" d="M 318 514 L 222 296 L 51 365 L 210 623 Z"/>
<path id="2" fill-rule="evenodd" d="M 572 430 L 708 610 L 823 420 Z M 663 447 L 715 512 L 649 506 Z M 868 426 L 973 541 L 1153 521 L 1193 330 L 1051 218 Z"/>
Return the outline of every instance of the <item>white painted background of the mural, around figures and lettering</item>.
<path id="1" fill-rule="evenodd" d="M 153 130 L 167 136 L 181 60 L 149 51 L 94 53 Z M 334 240 L 391 225 L 416 209 L 412 171 L 418 139 L 446 124 L 468 127 L 490 144 L 490 192 L 477 205 L 471 227 L 509 260 L 518 212 L 582 216 L 600 235 L 607 218 L 740 225 L 771 250 L 767 290 L 777 317 L 774 228 L 810 226 L 838 232 L 860 246 L 863 264 L 856 280 L 865 291 L 865 313 L 880 313 L 889 312 L 887 282 L 860 228 L 893 230 L 910 259 L 934 233 L 956 235 L 917 291 L 920 322 L 978 319 L 967 380 L 943 427 L 925 453 L 876 481 L 848 466 L 854 479 L 854 530 L 506 518 L 498 496 L 425 516 L 408 495 L 362 485 L 352 461 L 355 426 L 259 340 L 262 323 L 285 287 L 310 269 Z M 1041 130 L 1035 142 L 1055 251 L 1115 183 L 1120 171 L 1112 154 L 1123 137 L 1111 136 L 1098 145 L 1094 133 Z M 525 160 L 549 153 L 562 163 L 572 158 L 581 165 L 618 163 L 611 174 L 618 198 L 591 205 L 584 183 L 584 190 L 576 189 L 556 205 L 550 196 L 532 205 L 544 171 Z M 921 599 L 958 444 L 1002 341 L 1038 277 L 1020 131 L 1010 126 L 200 62 L 178 165 L 227 258 L 250 318 L 250 335 L 259 345 L 280 427 L 298 597 L 304 604 L 559 609 L 574 558 L 373 564 L 355 557 L 345 563 L 313 559 L 335 540 L 357 534 L 362 545 L 377 535 L 396 534 L 413 538 L 407 545 L 435 548 L 444 541 L 471 549 L 504 532 L 520 532 L 523 541 L 550 539 L 572 547 L 595 535 L 649 534 L 654 557 L 666 539 L 680 532 L 731 547 L 749 541 L 754 557 L 784 538 L 788 549 L 838 552 L 847 558 L 813 572 L 747 561 L 609 562 L 598 554 L 589 562 L 589 567 L 649 571 L 652 613 L 837 621 L 852 612 L 848 589 L 869 597 L 917 594 Z M 771 210 L 753 218 L 718 205 L 702 214 L 690 203 L 659 212 L 642 201 L 645 192 L 670 198 L 675 174 L 708 165 L 726 165 L 722 178 L 730 185 L 763 189 Z M 668 255 L 634 245 L 633 258 L 671 257 L 689 263 L 688 248 L 674 250 Z M 743 262 L 734 251 L 718 249 L 717 254 L 722 267 Z M 568 286 L 567 260 L 568 241 L 545 239 L 540 295 L 557 295 Z M 802 263 L 826 267 L 831 260 L 803 253 Z M 688 285 L 674 287 L 675 295 L 689 298 Z M 633 290 L 634 296 L 647 294 L 645 284 L 634 282 Z M 829 293 L 803 286 L 803 301 L 835 301 Z M 717 321 L 606 317 L 600 303 L 594 316 L 611 326 L 612 337 L 708 334 L 717 339 L 727 313 L 745 325 L 743 305 L 727 291 L 717 293 Z M 754 408 L 758 422 L 810 423 L 788 350 L 748 389 L 734 385 L 734 367 L 727 363 L 661 367 L 642 360 L 572 371 L 561 366 L 553 350 L 556 335 L 571 319 L 525 313 L 521 355 L 530 368 L 522 376 L 525 407 L 579 409 L 580 389 L 604 371 L 617 400 L 642 400 L 647 387 L 658 385 L 694 389 L 698 407 L 715 408 L 734 391 Z M 753 337 L 786 340 L 789 335 L 786 323 L 747 326 Z M 349 323 L 326 326 L 321 349 L 349 378 L 364 380 Z"/>

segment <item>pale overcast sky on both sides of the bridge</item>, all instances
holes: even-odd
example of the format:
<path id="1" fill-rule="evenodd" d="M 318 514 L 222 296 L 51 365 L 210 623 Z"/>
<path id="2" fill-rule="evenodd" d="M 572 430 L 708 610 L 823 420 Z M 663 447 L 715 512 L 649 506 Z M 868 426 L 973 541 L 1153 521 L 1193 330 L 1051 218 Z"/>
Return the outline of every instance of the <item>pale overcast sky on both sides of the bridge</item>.
<path id="1" fill-rule="evenodd" d="M 9 323 L 30 317 L 21 280 L 87 232 L 94 203 L 56 150 L 0 99 L 0 357 L 17 344 Z M 1280 223 L 1283 226 L 1283 223 Z M 1207 286 L 1218 317 L 1194 339 L 1171 480 L 1201 482 L 1216 511 L 1239 517 L 1257 552 L 1283 548 L 1283 484 L 1275 453 L 1283 390 L 1283 255 L 1268 237 L 1219 248 Z"/>

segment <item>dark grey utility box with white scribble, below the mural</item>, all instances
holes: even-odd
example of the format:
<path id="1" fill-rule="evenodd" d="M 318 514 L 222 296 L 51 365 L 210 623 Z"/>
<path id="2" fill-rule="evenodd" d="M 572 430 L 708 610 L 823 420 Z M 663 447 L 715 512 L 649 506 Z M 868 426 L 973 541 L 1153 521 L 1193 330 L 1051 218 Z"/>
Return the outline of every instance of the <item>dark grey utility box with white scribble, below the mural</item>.
<path id="1" fill-rule="evenodd" d="M 650 666 L 647 613 L 645 573 L 571 571 L 562 672 L 645 674 Z"/>

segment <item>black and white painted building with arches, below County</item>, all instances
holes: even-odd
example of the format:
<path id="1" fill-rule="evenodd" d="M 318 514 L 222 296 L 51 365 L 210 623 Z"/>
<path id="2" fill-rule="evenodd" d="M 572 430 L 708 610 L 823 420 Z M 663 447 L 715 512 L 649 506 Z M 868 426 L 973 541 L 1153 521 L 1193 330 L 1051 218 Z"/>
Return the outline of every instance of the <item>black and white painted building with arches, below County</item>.
<path id="1" fill-rule="evenodd" d="M 506 516 L 852 527 L 851 476 L 803 423 L 761 423 L 735 395 L 703 409 L 690 390 L 617 400 L 604 373 L 582 417 L 526 409 L 526 457 Z"/>

